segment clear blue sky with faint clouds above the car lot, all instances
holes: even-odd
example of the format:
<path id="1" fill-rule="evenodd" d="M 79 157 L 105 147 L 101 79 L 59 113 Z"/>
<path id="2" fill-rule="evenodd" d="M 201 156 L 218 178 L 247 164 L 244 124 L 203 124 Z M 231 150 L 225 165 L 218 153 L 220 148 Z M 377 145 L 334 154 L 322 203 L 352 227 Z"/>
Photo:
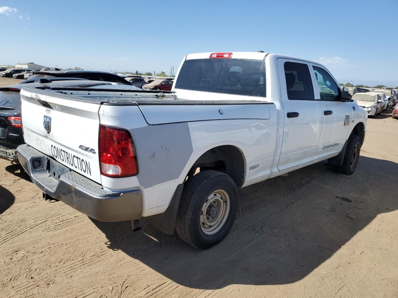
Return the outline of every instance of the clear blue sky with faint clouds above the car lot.
<path id="1" fill-rule="evenodd" d="M 0 1 L 0 64 L 164 70 L 185 54 L 257 51 L 398 85 L 398 1 Z"/>

